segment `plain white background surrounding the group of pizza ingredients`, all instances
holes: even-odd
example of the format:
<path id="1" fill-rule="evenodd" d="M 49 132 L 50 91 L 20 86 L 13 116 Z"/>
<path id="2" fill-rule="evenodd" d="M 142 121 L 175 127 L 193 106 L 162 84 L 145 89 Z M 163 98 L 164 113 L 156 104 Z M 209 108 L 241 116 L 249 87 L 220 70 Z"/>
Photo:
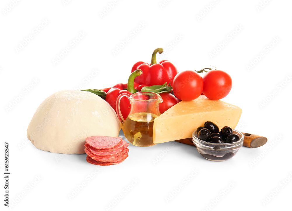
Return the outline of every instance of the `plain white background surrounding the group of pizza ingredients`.
<path id="1" fill-rule="evenodd" d="M 291 6 L 288 0 L 1 1 L 0 164 L 4 175 L 7 141 L 12 210 L 290 207 Z M 225 162 L 206 160 L 181 143 L 130 145 L 124 162 L 98 167 L 86 154 L 45 152 L 27 140 L 27 126 L 45 98 L 126 83 L 132 65 L 150 63 L 159 47 L 164 53 L 157 60 L 170 60 L 179 72 L 210 65 L 228 72 L 233 87 L 223 100 L 243 109 L 237 129 L 265 136 L 267 144 L 243 147 Z M 4 179 L 0 189 L 4 207 Z"/>

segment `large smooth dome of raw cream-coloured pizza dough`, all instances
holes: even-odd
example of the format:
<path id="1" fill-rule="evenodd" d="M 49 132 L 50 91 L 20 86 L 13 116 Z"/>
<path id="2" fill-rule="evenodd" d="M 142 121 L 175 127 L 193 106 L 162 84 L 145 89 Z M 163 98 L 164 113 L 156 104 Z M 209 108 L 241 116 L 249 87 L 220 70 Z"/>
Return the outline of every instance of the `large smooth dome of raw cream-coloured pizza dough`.
<path id="1" fill-rule="evenodd" d="M 101 97 L 88 91 L 63 90 L 39 105 L 27 138 L 44 151 L 84 154 L 86 137 L 117 137 L 120 129 L 117 114 Z"/>

